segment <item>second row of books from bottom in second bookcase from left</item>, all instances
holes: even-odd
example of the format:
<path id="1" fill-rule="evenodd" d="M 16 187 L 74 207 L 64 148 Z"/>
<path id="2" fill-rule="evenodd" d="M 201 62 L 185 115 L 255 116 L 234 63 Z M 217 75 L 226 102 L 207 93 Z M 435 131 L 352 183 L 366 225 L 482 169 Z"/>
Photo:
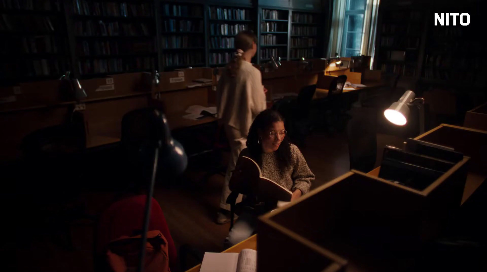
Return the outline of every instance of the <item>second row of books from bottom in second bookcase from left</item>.
<path id="1" fill-rule="evenodd" d="M 155 52 L 152 42 L 86 41 L 76 44 L 79 56 L 109 56 L 123 54 L 144 54 Z"/>

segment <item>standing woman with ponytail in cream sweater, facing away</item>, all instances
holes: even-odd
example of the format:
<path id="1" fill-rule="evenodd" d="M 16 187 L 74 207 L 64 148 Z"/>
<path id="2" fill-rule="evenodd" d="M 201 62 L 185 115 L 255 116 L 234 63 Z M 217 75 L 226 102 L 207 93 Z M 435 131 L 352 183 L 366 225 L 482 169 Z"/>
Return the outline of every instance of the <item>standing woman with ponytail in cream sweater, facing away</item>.
<path id="1" fill-rule="evenodd" d="M 217 223 L 230 221 L 230 206 L 226 198 L 231 193 L 228 182 L 237 158 L 244 149 L 247 132 L 254 118 L 266 108 L 265 89 L 261 71 L 250 63 L 257 52 L 257 37 L 251 31 L 240 31 L 235 36 L 235 57 L 225 67 L 217 85 L 217 117 L 225 129 L 231 148 L 231 157 L 225 175 L 220 212 Z M 239 196 L 237 202 L 242 199 Z"/>

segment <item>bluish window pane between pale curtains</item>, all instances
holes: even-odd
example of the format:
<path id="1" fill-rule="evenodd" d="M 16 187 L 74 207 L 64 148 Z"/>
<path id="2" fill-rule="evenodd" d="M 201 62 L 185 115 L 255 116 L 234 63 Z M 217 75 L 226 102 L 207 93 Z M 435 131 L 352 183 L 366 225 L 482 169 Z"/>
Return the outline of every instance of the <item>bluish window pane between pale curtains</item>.
<path id="1" fill-rule="evenodd" d="M 342 57 L 352 57 L 360 54 L 362 44 L 365 4 L 367 0 L 346 0 L 345 23 L 343 41 L 341 45 Z"/>

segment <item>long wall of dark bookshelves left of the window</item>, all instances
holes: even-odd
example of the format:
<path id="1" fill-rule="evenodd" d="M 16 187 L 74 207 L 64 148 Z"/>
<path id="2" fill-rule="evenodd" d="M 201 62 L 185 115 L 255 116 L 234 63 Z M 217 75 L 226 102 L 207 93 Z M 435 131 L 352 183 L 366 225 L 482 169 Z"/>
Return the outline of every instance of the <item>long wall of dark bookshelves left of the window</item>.
<path id="1" fill-rule="evenodd" d="M 271 56 L 316 58 L 322 46 L 318 9 L 246 0 L 4 0 L 0 49 L 8 54 L 0 53 L 0 78 L 8 83 L 59 78 L 66 71 L 92 78 L 223 66 L 242 30 L 258 38 L 253 63 Z"/>

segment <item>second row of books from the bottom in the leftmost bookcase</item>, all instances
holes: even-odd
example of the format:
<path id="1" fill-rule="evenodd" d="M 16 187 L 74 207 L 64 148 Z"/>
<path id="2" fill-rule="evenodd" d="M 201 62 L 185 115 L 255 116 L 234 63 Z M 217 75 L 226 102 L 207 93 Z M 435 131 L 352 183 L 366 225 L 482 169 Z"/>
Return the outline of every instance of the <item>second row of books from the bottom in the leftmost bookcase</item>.
<path id="1" fill-rule="evenodd" d="M 63 40 L 55 36 L 14 37 L 0 41 L 0 52 L 38 54 L 58 53 L 63 46 Z"/>

